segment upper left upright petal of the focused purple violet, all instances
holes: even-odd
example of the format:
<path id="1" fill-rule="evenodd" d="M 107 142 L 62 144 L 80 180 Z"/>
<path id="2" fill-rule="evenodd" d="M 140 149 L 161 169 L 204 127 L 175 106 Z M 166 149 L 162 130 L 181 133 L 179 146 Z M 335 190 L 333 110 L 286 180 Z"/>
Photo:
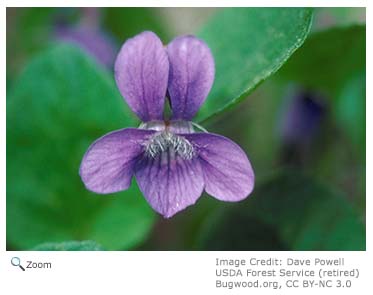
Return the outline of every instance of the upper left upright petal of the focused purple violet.
<path id="1" fill-rule="evenodd" d="M 153 32 L 143 32 L 123 44 L 115 61 L 115 80 L 143 122 L 163 119 L 168 71 L 166 50 Z"/>

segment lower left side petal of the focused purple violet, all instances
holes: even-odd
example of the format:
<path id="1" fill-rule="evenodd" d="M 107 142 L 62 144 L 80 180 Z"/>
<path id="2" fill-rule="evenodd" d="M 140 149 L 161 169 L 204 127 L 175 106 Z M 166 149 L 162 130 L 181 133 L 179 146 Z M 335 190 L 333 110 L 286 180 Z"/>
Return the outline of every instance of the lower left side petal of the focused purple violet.
<path id="1" fill-rule="evenodd" d="M 127 189 L 136 160 L 143 152 L 142 143 L 153 133 L 128 128 L 96 140 L 84 155 L 79 170 L 87 189 L 101 194 Z"/>

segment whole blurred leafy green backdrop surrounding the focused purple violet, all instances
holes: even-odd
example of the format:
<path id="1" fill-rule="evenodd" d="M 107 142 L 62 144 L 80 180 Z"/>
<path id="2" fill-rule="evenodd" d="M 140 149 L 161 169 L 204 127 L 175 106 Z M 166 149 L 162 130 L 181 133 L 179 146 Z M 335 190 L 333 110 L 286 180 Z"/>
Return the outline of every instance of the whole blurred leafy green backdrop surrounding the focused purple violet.
<path id="1" fill-rule="evenodd" d="M 196 121 L 249 155 L 246 200 L 163 219 L 135 181 L 84 188 L 88 146 L 139 124 L 113 62 L 143 30 L 211 47 Z M 365 250 L 365 36 L 364 8 L 8 8 L 7 249 Z"/>

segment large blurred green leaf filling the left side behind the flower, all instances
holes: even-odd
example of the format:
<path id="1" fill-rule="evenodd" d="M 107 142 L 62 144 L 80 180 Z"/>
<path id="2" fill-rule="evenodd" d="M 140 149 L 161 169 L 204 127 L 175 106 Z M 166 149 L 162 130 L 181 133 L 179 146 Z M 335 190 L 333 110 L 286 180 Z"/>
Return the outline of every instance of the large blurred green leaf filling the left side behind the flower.
<path id="1" fill-rule="evenodd" d="M 87 191 L 79 165 L 107 132 L 137 126 L 108 74 L 75 47 L 57 46 L 27 66 L 7 100 L 7 240 L 95 240 L 129 249 L 147 236 L 154 213 L 136 185 Z"/>

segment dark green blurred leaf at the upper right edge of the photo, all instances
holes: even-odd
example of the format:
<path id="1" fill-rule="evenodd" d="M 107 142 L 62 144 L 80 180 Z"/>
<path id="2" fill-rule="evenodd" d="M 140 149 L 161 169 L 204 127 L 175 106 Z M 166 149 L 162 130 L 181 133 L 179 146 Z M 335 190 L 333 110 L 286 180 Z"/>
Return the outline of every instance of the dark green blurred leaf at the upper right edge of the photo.
<path id="1" fill-rule="evenodd" d="M 346 81 L 365 72 L 365 26 L 310 35 L 278 77 L 336 97 Z"/>

